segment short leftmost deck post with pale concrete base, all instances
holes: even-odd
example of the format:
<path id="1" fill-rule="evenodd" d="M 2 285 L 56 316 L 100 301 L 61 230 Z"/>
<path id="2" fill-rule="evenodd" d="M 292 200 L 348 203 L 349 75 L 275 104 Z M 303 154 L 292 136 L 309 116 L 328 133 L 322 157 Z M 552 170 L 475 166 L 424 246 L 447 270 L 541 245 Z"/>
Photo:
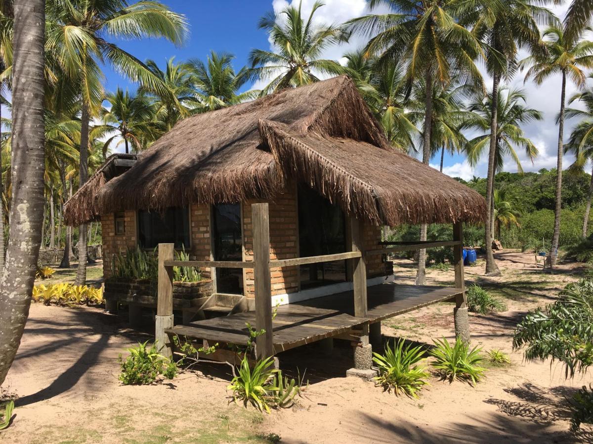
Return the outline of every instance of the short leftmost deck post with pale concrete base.
<path id="1" fill-rule="evenodd" d="M 165 267 L 165 260 L 173 260 L 174 244 L 158 244 L 157 316 L 155 317 L 155 345 L 161 355 L 171 358 L 173 347 L 165 330 L 173 328 L 173 267 Z"/>

